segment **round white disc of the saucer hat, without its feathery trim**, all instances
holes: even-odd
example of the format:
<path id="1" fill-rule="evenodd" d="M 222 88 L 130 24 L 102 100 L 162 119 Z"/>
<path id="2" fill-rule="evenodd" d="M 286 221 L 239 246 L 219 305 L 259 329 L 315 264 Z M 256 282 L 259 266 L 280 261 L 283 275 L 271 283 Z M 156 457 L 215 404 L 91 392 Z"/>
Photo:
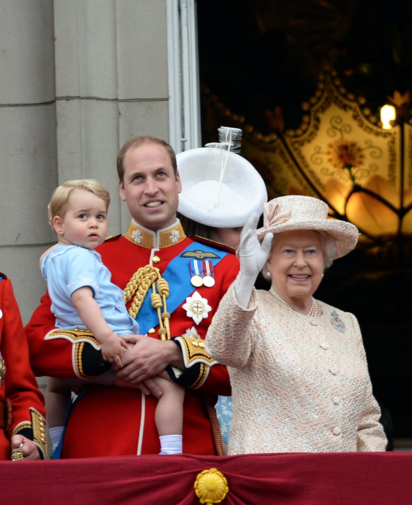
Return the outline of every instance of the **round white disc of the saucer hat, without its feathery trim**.
<path id="1" fill-rule="evenodd" d="M 259 172 L 225 145 L 198 147 L 176 156 L 182 181 L 178 212 L 215 228 L 243 226 L 268 199 Z"/>

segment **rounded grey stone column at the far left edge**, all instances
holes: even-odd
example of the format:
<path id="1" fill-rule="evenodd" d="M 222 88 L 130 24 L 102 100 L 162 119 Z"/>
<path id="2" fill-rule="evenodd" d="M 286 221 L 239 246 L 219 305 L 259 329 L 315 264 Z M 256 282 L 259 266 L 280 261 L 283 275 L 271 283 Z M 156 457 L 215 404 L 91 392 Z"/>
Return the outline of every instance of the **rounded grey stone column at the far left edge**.
<path id="1" fill-rule="evenodd" d="M 38 259 L 53 239 L 57 184 L 52 0 L 0 1 L 0 271 L 23 321 L 44 293 Z"/>

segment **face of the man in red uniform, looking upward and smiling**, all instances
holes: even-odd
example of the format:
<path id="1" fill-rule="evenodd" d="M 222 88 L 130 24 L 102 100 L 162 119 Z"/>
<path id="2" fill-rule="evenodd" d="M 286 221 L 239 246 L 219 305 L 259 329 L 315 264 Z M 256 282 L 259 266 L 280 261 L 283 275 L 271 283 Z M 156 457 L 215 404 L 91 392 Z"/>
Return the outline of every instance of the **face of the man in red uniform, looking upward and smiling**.
<path id="1" fill-rule="evenodd" d="M 119 182 L 119 192 L 132 218 L 153 231 L 172 225 L 182 184 L 163 145 L 131 147 L 123 166 L 124 182 Z"/>

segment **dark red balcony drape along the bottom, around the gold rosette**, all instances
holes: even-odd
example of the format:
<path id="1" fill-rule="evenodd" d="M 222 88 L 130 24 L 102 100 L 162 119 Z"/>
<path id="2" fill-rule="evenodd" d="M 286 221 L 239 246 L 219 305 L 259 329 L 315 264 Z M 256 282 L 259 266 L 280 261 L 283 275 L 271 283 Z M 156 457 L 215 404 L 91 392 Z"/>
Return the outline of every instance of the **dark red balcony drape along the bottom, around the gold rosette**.
<path id="1" fill-rule="evenodd" d="M 211 468 L 227 479 L 223 505 L 412 503 L 412 452 L 0 462 L 0 497 L 13 505 L 198 505 L 194 482 Z"/>

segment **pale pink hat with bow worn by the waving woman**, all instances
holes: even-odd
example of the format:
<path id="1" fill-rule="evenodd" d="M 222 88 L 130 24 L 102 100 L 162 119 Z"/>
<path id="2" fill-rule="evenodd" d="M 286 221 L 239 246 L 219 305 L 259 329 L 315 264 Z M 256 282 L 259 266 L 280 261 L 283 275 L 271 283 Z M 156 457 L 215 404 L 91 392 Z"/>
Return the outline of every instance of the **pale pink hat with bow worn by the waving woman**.
<path id="1" fill-rule="evenodd" d="M 328 205 L 313 196 L 279 196 L 264 204 L 263 227 L 258 229 L 260 240 L 268 233 L 291 230 L 315 230 L 329 235 L 336 247 L 332 260 L 341 258 L 355 248 L 359 232 L 347 221 L 328 219 Z"/>

